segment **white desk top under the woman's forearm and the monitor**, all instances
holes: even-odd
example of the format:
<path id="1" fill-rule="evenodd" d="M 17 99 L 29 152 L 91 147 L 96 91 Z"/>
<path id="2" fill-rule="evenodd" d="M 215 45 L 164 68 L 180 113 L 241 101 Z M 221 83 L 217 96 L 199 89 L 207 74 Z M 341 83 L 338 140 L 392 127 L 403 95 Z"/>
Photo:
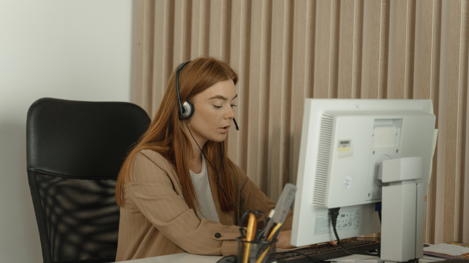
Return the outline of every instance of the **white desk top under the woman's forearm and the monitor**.
<path id="1" fill-rule="evenodd" d="M 348 259 L 350 257 L 357 257 L 356 255 L 349 255 L 339 259 Z M 192 255 L 189 253 L 180 253 L 180 254 L 173 254 L 161 257 L 154 257 L 154 258 L 146 258 L 146 259 L 138 259 L 138 260 L 129 260 L 123 261 L 125 263 L 216 263 L 219 259 L 223 258 L 222 256 L 201 256 L 201 255 Z M 437 263 L 438 261 L 420 259 L 419 263 Z"/>

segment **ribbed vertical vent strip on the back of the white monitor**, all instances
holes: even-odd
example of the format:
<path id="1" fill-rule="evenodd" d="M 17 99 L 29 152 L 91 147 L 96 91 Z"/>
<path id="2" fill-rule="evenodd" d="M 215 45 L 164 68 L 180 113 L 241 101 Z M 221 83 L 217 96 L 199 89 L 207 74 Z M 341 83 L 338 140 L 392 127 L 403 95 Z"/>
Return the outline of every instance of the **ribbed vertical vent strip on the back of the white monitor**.
<path id="1" fill-rule="evenodd" d="M 314 181 L 314 206 L 324 207 L 326 205 L 326 190 L 332 152 L 333 126 L 334 116 L 327 113 L 322 113 L 318 147 L 318 162 L 316 164 L 316 177 Z"/>

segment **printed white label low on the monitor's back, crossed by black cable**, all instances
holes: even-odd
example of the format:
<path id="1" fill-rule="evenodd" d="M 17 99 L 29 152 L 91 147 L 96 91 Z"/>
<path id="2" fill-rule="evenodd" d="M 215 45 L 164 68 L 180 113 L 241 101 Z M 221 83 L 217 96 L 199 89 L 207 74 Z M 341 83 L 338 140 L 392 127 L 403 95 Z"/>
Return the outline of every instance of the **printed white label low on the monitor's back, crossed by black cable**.
<path id="1" fill-rule="evenodd" d="M 340 211 L 337 217 L 336 230 L 348 231 L 360 227 L 360 214 L 362 209 Z M 314 235 L 333 232 L 329 214 L 316 215 Z"/>

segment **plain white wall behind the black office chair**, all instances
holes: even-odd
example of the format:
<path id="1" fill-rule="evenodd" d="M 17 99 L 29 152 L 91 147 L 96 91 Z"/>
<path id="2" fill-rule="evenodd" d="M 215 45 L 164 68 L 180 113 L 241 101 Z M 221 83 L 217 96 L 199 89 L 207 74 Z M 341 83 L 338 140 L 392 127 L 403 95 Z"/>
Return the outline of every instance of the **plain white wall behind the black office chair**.
<path id="1" fill-rule="evenodd" d="M 0 262 L 43 262 L 26 173 L 42 97 L 129 101 L 130 0 L 0 0 Z"/>

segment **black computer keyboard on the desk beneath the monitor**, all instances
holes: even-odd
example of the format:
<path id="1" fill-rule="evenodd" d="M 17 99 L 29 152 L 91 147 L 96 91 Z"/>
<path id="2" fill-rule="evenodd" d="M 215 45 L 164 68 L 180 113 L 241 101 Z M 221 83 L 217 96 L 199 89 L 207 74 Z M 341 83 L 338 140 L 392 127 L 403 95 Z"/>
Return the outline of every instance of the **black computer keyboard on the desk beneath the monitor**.
<path id="1" fill-rule="evenodd" d="M 376 249 L 380 248 L 380 243 L 376 241 L 342 240 L 342 244 L 349 250 L 357 252 L 375 252 Z M 308 255 L 314 261 L 297 252 Z M 317 246 L 303 247 L 295 250 L 276 253 L 275 259 L 277 259 L 277 262 L 280 263 L 312 263 L 327 259 L 340 258 L 347 255 L 350 254 L 343 251 L 340 245 L 334 246 L 326 243 Z"/>

